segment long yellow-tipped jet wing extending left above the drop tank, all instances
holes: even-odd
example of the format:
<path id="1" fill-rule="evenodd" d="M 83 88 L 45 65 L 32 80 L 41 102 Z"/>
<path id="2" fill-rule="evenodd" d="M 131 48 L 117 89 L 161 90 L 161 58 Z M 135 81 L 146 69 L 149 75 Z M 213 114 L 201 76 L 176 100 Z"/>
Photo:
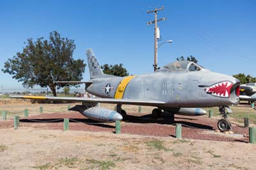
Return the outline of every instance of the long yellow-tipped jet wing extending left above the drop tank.
<path id="1" fill-rule="evenodd" d="M 132 104 L 132 105 L 148 105 L 159 106 L 164 105 L 165 102 L 156 100 L 137 100 L 137 99 L 124 99 L 124 98 L 84 98 L 84 97 L 40 97 L 40 96 L 11 96 L 10 98 L 23 98 L 35 100 L 52 100 L 52 101 L 72 101 L 72 102 L 85 102 L 85 103 L 106 103 L 106 104 Z"/>

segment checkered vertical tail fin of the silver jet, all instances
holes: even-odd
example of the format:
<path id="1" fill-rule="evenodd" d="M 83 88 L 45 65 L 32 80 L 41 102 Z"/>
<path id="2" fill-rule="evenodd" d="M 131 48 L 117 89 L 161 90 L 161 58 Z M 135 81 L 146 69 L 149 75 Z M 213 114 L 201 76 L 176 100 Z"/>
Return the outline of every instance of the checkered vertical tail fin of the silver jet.
<path id="1" fill-rule="evenodd" d="M 92 49 L 86 50 L 86 55 L 87 55 L 88 66 L 90 70 L 90 79 L 93 79 L 95 77 L 102 77 L 104 73 L 102 72 L 99 63 L 95 58 Z"/>

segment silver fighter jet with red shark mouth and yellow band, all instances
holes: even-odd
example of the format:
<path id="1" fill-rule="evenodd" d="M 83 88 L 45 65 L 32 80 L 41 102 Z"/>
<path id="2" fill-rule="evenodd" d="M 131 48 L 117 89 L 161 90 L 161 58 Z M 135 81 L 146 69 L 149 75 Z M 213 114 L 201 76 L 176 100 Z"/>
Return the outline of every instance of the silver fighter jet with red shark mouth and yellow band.
<path id="1" fill-rule="evenodd" d="M 76 105 L 72 110 L 99 121 L 122 120 L 126 115 L 122 109 L 123 104 L 154 106 L 156 109 L 152 111 L 153 118 L 161 116 L 163 111 L 173 116 L 198 116 L 206 113 L 200 107 L 218 106 L 224 115 L 224 118 L 218 121 L 218 127 L 221 130 L 230 129 L 230 122 L 225 118 L 225 107 L 239 101 L 238 79 L 211 72 L 192 61 L 175 61 L 163 66 L 156 73 L 117 77 L 102 72 L 92 49 L 86 50 L 86 55 L 90 70 L 90 81 L 85 82 L 86 91 L 100 98 L 12 98 L 82 102 L 82 105 Z M 117 104 L 117 112 L 100 108 L 98 103 Z"/>

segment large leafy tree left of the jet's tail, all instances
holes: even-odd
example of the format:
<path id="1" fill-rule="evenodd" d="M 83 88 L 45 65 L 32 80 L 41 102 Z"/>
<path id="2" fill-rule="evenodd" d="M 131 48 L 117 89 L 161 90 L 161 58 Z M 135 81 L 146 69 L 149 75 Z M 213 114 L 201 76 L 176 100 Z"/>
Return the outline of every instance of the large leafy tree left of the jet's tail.
<path id="1" fill-rule="evenodd" d="M 85 64 L 82 59 L 74 59 L 76 49 L 74 40 L 61 38 L 57 31 L 50 33 L 49 40 L 43 37 L 33 42 L 28 39 L 26 47 L 16 56 L 4 63 L 2 71 L 10 73 L 14 79 L 22 82 L 24 87 L 33 88 L 49 86 L 56 96 L 54 81 L 81 81 Z M 57 88 L 65 84 L 58 84 Z"/>

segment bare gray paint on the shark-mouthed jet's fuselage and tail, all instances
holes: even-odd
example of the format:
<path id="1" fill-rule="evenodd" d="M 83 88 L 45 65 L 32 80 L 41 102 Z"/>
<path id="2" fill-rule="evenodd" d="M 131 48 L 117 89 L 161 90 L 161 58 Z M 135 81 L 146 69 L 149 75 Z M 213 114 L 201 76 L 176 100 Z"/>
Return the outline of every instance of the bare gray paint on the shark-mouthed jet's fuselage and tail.
<path id="1" fill-rule="evenodd" d="M 93 52 L 90 51 L 92 50 L 87 50 L 87 54 L 94 55 Z M 88 58 L 92 58 L 92 56 L 89 55 Z M 93 58 L 95 58 L 95 56 L 93 56 Z M 99 65 L 99 63 L 95 65 Z M 99 70 L 99 68 L 96 68 L 96 70 Z M 93 69 L 90 68 L 90 73 L 92 72 Z M 104 74 L 99 75 L 90 80 L 93 84 L 90 85 L 86 91 L 98 97 L 114 98 L 118 84 L 120 84 L 123 79 L 125 79 L 125 77 L 109 77 Z M 216 97 L 205 92 L 205 88 L 208 86 L 227 81 L 231 82 L 232 86 L 234 86 L 230 97 Z M 100 90 L 107 84 L 111 84 L 113 89 L 108 95 L 104 90 Z M 201 68 L 201 71 L 193 72 L 188 72 L 188 70 L 169 71 L 166 68 L 161 68 L 156 73 L 138 75 L 131 79 L 125 88 L 123 98 L 127 100 L 161 101 L 165 103 L 164 107 L 214 107 L 236 104 L 238 97 L 236 96 L 235 88 L 238 86 L 239 80 L 236 78 L 210 72 L 204 68 Z"/>

